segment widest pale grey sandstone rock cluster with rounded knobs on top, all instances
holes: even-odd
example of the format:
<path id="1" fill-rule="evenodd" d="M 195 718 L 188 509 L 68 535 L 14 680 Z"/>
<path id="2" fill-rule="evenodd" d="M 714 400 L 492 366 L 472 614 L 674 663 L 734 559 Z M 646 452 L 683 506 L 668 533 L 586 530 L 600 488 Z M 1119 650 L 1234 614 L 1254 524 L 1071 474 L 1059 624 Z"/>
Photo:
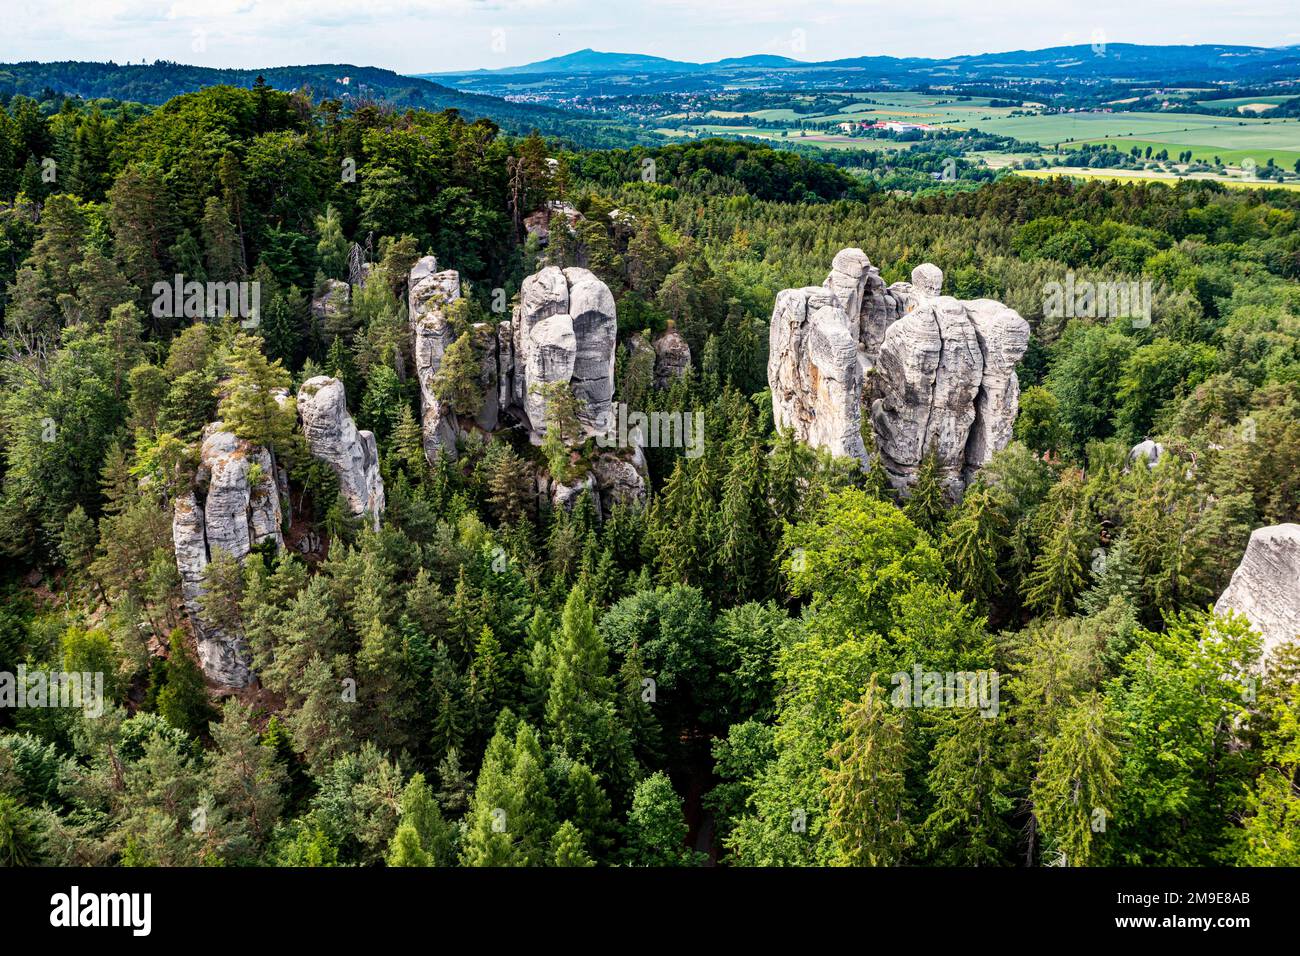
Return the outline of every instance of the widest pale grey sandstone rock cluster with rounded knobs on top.
<path id="1" fill-rule="evenodd" d="M 768 354 L 772 411 L 807 444 L 866 464 L 863 390 L 890 484 L 906 492 L 933 454 L 953 497 L 1008 445 L 1019 407 L 1015 363 L 1028 324 L 991 299 L 941 295 L 926 263 L 884 286 L 858 248 L 836 255 L 820 289 L 776 297 Z"/>

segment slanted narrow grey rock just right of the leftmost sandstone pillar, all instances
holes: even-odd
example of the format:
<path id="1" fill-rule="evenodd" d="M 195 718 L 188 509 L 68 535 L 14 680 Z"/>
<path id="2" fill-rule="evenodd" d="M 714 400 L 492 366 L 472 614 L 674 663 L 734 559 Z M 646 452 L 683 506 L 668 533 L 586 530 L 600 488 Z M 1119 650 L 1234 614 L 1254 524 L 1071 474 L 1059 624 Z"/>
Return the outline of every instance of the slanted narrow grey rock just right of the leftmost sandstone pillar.
<path id="1" fill-rule="evenodd" d="M 369 515 L 378 531 L 385 506 L 380 451 L 374 433 L 358 431 L 348 414 L 343 382 L 328 375 L 304 381 L 298 390 L 298 416 L 307 446 L 338 475 L 352 514 Z"/>

